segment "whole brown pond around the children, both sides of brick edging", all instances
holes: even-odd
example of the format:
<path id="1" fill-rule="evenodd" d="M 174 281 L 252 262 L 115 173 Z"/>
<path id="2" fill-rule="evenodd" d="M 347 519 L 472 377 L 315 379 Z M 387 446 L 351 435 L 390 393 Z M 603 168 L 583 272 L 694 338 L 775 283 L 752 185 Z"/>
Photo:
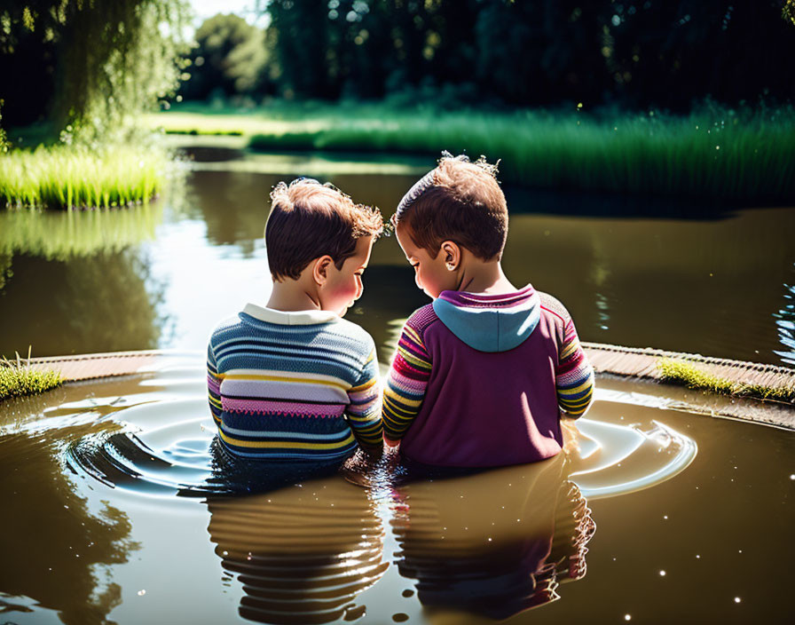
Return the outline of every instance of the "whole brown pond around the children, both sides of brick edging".
<path id="1" fill-rule="evenodd" d="M 0 405 L 5 621 L 789 621 L 795 437 L 685 412 L 697 392 L 602 377 L 579 447 L 547 463 L 418 478 L 387 459 L 241 494 L 201 352 L 267 298 L 271 186 L 308 173 L 389 214 L 428 166 L 201 162 L 135 210 L 0 215 L 0 351 L 172 350 Z M 508 276 L 583 339 L 795 364 L 795 211 L 506 193 Z M 394 239 L 365 289 L 349 316 L 383 364 L 426 303 Z"/>

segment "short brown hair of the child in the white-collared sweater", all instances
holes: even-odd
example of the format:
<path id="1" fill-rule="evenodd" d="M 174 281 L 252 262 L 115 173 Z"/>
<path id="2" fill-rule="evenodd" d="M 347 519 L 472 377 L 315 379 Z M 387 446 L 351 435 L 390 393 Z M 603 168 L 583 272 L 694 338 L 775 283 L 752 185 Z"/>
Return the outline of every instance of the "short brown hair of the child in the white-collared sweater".
<path id="1" fill-rule="evenodd" d="M 265 248 L 276 281 L 297 280 L 312 259 L 326 255 L 341 269 L 356 253 L 358 239 L 377 236 L 383 229 L 378 209 L 354 204 L 335 186 L 311 178 L 279 182 L 271 202 Z"/>

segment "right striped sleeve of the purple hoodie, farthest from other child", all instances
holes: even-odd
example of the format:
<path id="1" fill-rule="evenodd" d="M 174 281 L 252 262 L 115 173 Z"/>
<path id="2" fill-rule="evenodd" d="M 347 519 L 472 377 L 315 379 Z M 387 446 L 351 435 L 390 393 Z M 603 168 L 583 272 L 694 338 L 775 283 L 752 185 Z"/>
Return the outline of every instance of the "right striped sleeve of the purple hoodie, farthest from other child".
<path id="1" fill-rule="evenodd" d="M 574 417 L 585 414 L 594 397 L 594 368 L 579 344 L 571 319 L 563 331 L 563 346 L 555 367 L 555 387 L 558 404 L 564 413 Z"/>

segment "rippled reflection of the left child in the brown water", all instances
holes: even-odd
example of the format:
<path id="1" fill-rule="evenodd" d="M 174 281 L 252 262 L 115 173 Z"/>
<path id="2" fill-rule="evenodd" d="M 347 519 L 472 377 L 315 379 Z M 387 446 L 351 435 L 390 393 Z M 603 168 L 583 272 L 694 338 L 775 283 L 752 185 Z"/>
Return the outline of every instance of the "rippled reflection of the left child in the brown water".
<path id="1" fill-rule="evenodd" d="M 210 540 L 243 585 L 240 616 L 326 623 L 365 614 L 355 598 L 378 581 L 384 531 L 366 491 L 339 477 L 208 501 Z"/>

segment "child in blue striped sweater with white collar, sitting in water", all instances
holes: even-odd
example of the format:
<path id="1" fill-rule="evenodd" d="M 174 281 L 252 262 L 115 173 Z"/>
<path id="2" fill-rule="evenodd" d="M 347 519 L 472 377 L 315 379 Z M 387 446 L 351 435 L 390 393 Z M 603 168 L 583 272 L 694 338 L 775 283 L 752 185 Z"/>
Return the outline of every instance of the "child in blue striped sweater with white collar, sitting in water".
<path id="1" fill-rule="evenodd" d="M 361 297 L 377 209 L 316 180 L 279 183 L 265 225 L 273 290 L 209 339 L 209 407 L 232 455 L 304 466 L 382 453 L 373 338 L 342 315 Z"/>

